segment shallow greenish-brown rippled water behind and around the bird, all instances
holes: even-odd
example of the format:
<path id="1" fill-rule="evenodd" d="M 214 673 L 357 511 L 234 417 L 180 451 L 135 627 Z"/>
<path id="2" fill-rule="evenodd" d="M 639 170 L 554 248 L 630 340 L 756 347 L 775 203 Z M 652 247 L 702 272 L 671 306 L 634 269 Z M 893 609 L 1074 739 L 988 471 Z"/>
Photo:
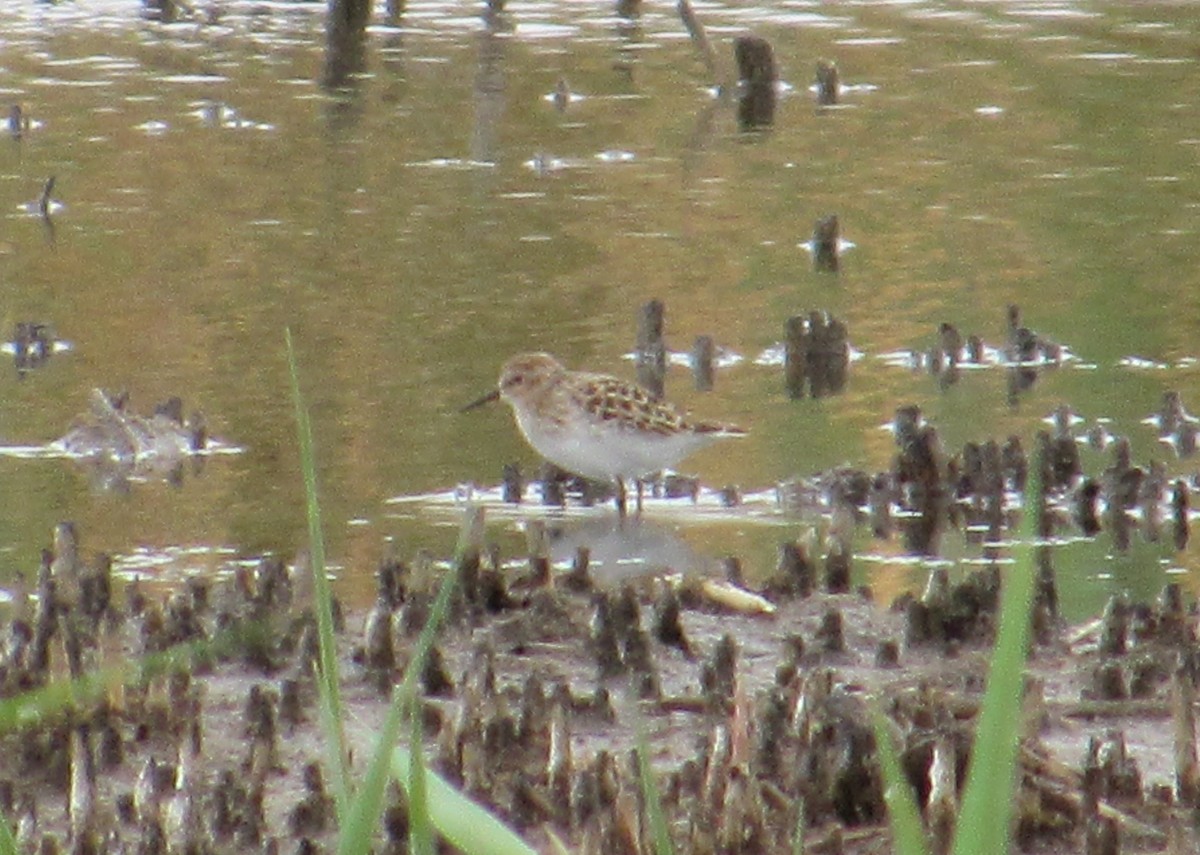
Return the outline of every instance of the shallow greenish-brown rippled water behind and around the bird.
<path id="1" fill-rule="evenodd" d="M 245 449 L 181 485 L 122 491 L 71 461 L 0 456 L 2 576 L 35 569 L 61 519 L 85 552 L 149 576 L 293 555 L 305 520 L 284 327 L 348 592 L 371 591 L 388 539 L 404 555 L 451 548 L 455 513 L 388 500 L 494 485 L 510 461 L 533 471 L 506 411 L 456 413 L 508 355 L 632 376 L 623 357 L 652 298 L 673 349 L 708 334 L 745 358 L 707 394 L 685 369 L 668 376 L 672 399 L 751 430 L 685 464 L 714 488 L 884 468 L 878 426 L 908 402 L 949 449 L 1009 434 L 1028 448 L 1069 402 L 1111 419 L 1136 462 L 1198 468 L 1141 424 L 1165 389 L 1200 407 L 1187 5 L 698 5 L 727 67 L 737 35 L 775 48 L 790 89 L 755 133 L 713 97 L 672 5 L 515 2 L 491 23 L 474 4 L 379 8 L 364 71 L 337 90 L 322 85 L 322 6 L 220 10 L 162 24 L 128 4 L 0 8 L 0 97 L 36 122 L 0 139 L 0 330 L 44 322 L 72 345 L 0 373 L 0 443 L 61 436 L 106 387 L 144 409 L 181 395 Z M 852 84 L 836 109 L 808 91 L 820 56 Z M 565 110 L 548 97 L 560 77 Z M 50 175 L 53 229 L 26 208 Z M 836 275 L 802 246 L 830 213 L 856 245 Z M 943 321 L 1002 343 L 1009 303 L 1076 357 L 1015 401 L 1002 371 L 943 389 L 886 358 L 928 348 Z M 755 360 L 811 309 L 863 355 L 844 394 L 790 401 L 781 369 Z M 1096 474 L 1106 456 L 1084 461 Z M 732 554 L 754 575 L 814 525 L 665 513 L 646 528 L 667 556 Z M 509 551 L 514 530 L 497 525 Z M 923 576 L 899 542 L 859 548 L 883 597 Z M 977 554 L 954 532 L 942 550 Z M 1102 533 L 1057 566 L 1074 615 L 1114 590 L 1200 580 L 1196 548 L 1169 538 L 1116 552 Z"/>

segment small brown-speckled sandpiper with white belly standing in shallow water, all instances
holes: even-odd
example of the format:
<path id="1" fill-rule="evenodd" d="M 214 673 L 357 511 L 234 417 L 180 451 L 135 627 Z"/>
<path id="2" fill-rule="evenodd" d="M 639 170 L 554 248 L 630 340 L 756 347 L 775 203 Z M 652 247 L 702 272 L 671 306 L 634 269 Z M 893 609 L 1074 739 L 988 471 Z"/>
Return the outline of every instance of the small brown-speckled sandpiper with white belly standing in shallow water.
<path id="1" fill-rule="evenodd" d="M 496 400 L 512 407 L 526 440 L 552 464 L 616 482 L 622 510 L 626 480 L 640 485 L 713 440 L 745 435 L 734 425 L 694 421 L 635 383 L 568 371 L 548 353 L 512 357 L 497 388 L 463 409 Z"/>

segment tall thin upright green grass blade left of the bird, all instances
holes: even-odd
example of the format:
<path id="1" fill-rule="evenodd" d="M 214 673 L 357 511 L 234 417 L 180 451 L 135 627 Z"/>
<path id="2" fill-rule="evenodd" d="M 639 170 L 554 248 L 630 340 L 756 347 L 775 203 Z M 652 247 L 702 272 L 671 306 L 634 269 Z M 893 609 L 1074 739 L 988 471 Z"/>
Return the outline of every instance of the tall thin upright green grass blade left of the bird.
<path id="1" fill-rule="evenodd" d="M 300 441 L 300 468 L 304 473 L 305 506 L 308 518 L 308 550 L 312 562 L 313 610 L 317 612 L 317 635 L 320 647 L 320 668 L 317 686 L 320 695 L 322 730 L 329 752 L 329 767 L 334 773 L 334 796 L 337 815 L 348 819 L 350 773 L 347 769 L 346 730 L 342 727 L 342 695 L 338 686 L 337 646 L 334 640 L 332 594 L 325 578 L 325 538 L 320 526 L 320 503 L 317 498 L 317 466 L 312 444 L 312 423 L 300 394 L 300 372 L 296 369 L 292 330 L 284 328 L 288 372 L 292 377 L 292 401 L 295 405 L 296 434 Z"/>

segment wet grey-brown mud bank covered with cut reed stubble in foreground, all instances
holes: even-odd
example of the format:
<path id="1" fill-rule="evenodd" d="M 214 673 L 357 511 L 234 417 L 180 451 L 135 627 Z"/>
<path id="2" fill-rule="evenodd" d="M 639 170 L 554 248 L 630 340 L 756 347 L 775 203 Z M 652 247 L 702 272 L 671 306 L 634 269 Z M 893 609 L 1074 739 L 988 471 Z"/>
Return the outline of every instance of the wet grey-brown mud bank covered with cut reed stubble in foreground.
<path id="1" fill-rule="evenodd" d="M 738 579 L 600 590 L 584 551 L 572 567 L 503 561 L 473 537 L 449 567 L 384 560 L 376 605 L 335 609 L 359 773 L 450 572 L 452 614 L 421 675 L 425 748 L 539 849 L 553 832 L 576 851 L 650 850 L 632 758 L 641 730 L 683 851 L 788 851 L 800 803 L 805 851 L 890 851 L 876 707 L 944 839 L 1012 568 L 954 582 L 936 568 L 919 597 L 888 608 L 847 591 L 839 562 L 798 544 L 781 545 L 758 592 Z M 103 558 L 78 555 L 64 524 L 37 597 L 4 629 L 5 696 L 108 675 L 2 737 L 0 797 L 22 847 L 332 850 L 308 572 L 264 560 L 158 597 L 114 590 Z M 1043 558 L 1022 848 L 1194 851 L 1195 608 L 1169 586 L 1152 604 L 1115 598 L 1082 627 L 1055 612 Z M 187 652 L 163 658 L 172 650 Z M 157 664 L 114 676 L 133 657 Z M 406 851 L 403 801 L 390 800 L 379 847 Z M 1114 839 L 1118 848 L 1100 845 Z"/>

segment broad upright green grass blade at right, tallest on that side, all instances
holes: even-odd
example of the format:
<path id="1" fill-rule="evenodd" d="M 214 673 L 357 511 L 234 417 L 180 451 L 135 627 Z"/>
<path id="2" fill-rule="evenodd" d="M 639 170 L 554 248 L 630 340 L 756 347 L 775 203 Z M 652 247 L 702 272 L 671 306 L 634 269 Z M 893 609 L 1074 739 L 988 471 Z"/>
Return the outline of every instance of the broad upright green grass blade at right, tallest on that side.
<path id="1" fill-rule="evenodd" d="M 1030 609 L 1037 584 L 1032 542 L 1037 532 L 1037 500 L 1042 461 L 1031 466 L 1025 514 L 1016 538 L 1016 561 L 1001 590 L 1000 628 L 992 651 L 983 710 L 976 725 L 971 769 L 954 833 L 955 855 L 1002 855 L 1010 849 L 1013 788 L 1020 748 L 1025 660 L 1030 645 Z"/>

